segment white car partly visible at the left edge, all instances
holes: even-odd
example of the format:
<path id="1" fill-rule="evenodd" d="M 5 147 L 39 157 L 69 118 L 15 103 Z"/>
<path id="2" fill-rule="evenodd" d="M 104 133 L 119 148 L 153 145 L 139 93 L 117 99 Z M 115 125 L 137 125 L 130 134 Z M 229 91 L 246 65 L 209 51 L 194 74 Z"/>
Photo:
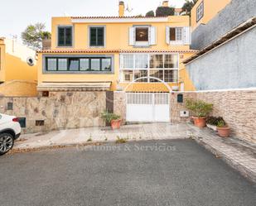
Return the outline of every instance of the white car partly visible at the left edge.
<path id="1" fill-rule="evenodd" d="M 14 141 L 21 135 L 18 118 L 0 113 L 0 156 L 12 149 Z"/>

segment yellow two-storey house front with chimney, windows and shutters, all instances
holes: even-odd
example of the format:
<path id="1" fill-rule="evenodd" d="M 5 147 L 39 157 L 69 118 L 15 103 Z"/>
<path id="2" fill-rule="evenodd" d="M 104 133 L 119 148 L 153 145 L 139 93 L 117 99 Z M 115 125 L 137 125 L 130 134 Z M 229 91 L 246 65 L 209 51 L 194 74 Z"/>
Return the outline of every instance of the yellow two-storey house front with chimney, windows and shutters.
<path id="1" fill-rule="evenodd" d="M 53 17 L 51 50 L 38 52 L 38 90 L 191 89 L 181 63 L 195 52 L 190 17 L 123 17 L 123 9 L 120 2 L 119 17 Z"/>

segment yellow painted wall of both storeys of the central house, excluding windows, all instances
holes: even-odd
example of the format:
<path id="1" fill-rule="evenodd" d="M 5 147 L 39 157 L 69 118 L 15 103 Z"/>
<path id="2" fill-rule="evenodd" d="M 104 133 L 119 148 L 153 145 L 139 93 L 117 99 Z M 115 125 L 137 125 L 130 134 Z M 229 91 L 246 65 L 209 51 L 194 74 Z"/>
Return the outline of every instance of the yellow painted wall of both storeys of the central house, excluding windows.
<path id="1" fill-rule="evenodd" d="M 75 23 L 73 25 L 74 42 L 73 47 L 57 47 L 57 27 L 72 26 L 70 17 L 53 17 L 51 24 L 51 50 L 190 50 L 190 46 L 169 46 L 166 43 L 166 26 L 190 26 L 190 18 L 187 16 L 168 17 L 168 22 L 130 22 L 130 23 Z M 106 26 L 105 48 L 89 48 L 89 26 Z M 129 46 L 129 27 L 134 25 L 151 25 L 157 27 L 157 44 L 149 48 L 134 48 Z M 193 53 L 181 53 L 180 68 L 184 66 L 181 62 Z M 89 55 L 88 53 L 47 53 L 47 55 Z M 93 53 L 93 55 L 114 55 L 114 74 L 43 74 L 42 56 L 38 54 L 38 84 L 43 82 L 95 82 L 111 81 L 111 89 L 124 89 L 128 84 L 118 84 L 119 79 L 119 53 Z M 170 86 L 179 84 L 169 84 Z M 130 90 L 129 88 L 128 90 Z M 168 91 L 163 84 L 133 84 L 133 91 Z"/>

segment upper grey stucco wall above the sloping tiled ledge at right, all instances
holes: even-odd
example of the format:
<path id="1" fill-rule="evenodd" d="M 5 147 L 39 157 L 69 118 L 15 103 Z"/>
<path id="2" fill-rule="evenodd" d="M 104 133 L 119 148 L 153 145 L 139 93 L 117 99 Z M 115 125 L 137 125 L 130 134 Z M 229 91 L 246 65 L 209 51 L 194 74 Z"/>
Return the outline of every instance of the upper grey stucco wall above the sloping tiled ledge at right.
<path id="1" fill-rule="evenodd" d="M 200 50 L 210 45 L 239 24 L 256 16 L 255 0 L 233 0 L 206 25 L 192 32 L 191 49 Z"/>

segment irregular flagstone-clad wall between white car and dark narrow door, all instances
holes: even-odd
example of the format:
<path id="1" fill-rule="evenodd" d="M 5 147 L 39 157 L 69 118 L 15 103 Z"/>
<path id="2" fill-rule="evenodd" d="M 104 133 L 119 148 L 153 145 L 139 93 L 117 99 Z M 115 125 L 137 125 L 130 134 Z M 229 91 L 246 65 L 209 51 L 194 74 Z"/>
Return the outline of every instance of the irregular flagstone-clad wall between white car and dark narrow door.
<path id="1" fill-rule="evenodd" d="M 7 104 L 12 103 L 12 109 Z M 50 92 L 49 97 L 0 98 L 0 113 L 26 117 L 24 133 L 104 126 L 105 92 Z M 43 120 L 44 126 L 36 126 Z"/>

